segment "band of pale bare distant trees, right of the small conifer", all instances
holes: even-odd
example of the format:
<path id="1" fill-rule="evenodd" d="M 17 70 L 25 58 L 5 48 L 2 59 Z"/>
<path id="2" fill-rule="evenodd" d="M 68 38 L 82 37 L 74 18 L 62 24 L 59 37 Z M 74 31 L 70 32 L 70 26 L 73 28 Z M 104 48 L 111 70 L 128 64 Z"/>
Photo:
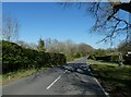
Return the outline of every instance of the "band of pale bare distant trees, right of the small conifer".
<path id="1" fill-rule="evenodd" d="M 74 57 L 78 54 L 86 56 L 92 52 L 94 48 L 86 44 L 75 44 L 68 39 L 59 41 L 57 39 L 46 39 L 46 49 L 49 52 L 61 52 L 66 56 Z"/>

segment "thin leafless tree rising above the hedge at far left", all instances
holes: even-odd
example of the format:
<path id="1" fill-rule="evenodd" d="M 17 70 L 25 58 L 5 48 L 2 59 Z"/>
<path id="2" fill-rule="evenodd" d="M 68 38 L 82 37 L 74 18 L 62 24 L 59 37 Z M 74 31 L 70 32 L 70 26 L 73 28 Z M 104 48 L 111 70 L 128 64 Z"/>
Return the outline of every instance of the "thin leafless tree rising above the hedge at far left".
<path id="1" fill-rule="evenodd" d="M 9 41 L 17 39 L 19 26 L 17 19 L 4 16 L 2 21 L 2 39 Z"/>

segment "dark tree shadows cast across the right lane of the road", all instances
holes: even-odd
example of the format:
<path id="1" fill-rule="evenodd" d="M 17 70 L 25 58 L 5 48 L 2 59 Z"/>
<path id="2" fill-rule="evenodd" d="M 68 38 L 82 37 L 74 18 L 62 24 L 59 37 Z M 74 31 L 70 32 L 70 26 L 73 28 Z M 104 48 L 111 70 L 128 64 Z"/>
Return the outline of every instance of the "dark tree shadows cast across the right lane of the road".
<path id="1" fill-rule="evenodd" d="M 91 95 L 94 97 L 106 97 L 103 89 L 98 85 L 98 83 L 93 78 L 90 66 L 86 63 L 68 63 L 67 65 L 60 66 L 62 70 L 68 70 L 71 73 L 79 73 L 82 76 L 87 76 L 86 78 L 82 80 L 82 76 L 79 76 L 80 78 L 76 78 L 75 76 L 72 76 L 71 83 L 74 87 L 76 87 L 79 90 L 81 90 L 80 95 Z M 90 76 L 90 77 L 88 77 Z M 71 77 L 70 77 L 71 78 Z"/>

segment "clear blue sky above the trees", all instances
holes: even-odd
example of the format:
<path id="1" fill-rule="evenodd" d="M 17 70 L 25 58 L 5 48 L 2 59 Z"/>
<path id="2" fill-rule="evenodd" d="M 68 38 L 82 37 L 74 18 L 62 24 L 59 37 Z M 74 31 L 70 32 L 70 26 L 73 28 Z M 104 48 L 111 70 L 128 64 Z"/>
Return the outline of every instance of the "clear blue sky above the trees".
<path id="1" fill-rule="evenodd" d="M 19 20 L 19 40 L 37 44 L 39 38 L 70 39 L 94 48 L 110 48 L 109 43 L 97 44 L 104 36 L 88 33 L 95 19 L 85 10 L 64 9 L 57 2 L 4 2 L 2 14 Z M 114 47 L 118 44 L 119 39 Z"/>

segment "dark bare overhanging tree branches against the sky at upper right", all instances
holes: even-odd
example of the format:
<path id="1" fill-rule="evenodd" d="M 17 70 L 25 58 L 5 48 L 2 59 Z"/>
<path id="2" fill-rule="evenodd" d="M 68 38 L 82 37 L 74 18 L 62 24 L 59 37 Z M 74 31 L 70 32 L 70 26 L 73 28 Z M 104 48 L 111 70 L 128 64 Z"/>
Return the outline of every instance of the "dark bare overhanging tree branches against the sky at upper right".
<path id="1" fill-rule="evenodd" d="M 103 0 L 98 0 L 99 2 L 76 2 L 73 3 L 79 9 L 84 8 L 87 12 L 91 12 L 96 22 L 94 26 L 91 28 L 91 32 L 97 32 L 106 35 L 105 38 L 100 41 L 112 40 L 120 34 L 124 34 L 124 40 L 129 41 L 131 39 L 131 22 L 129 21 L 131 14 L 131 1 L 130 2 L 115 2 L 114 0 L 108 0 L 108 2 L 100 2 Z M 70 2 L 61 3 L 66 8 L 70 4 Z M 74 7 L 74 5 L 73 5 Z M 121 11 L 127 12 L 127 17 L 121 19 L 119 14 Z M 128 14 L 129 13 L 129 14 Z M 124 14 L 126 15 L 126 14 Z M 122 25 L 122 26 L 120 26 Z"/>

